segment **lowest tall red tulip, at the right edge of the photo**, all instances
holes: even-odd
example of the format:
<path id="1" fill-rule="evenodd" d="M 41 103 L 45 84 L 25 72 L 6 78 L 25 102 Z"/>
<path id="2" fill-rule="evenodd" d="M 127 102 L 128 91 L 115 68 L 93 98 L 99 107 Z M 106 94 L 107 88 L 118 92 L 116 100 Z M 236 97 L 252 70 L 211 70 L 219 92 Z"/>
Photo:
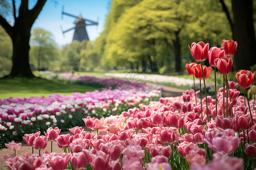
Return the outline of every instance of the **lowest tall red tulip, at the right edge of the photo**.
<path id="1" fill-rule="evenodd" d="M 255 71 L 254 73 L 251 73 L 249 70 L 239 70 L 236 74 L 236 78 L 241 87 L 248 88 L 253 85 L 254 75 Z"/>

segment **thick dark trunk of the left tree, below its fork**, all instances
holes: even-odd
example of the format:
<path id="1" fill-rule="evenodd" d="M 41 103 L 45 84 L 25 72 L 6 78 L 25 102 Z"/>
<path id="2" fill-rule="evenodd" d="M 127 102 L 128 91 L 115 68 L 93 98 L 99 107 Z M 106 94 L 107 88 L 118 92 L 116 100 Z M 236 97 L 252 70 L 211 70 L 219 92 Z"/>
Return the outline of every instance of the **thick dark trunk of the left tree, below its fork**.
<path id="1" fill-rule="evenodd" d="M 13 40 L 13 67 L 9 76 L 34 77 L 30 69 L 28 52 L 30 50 L 30 28 L 16 27 Z"/>

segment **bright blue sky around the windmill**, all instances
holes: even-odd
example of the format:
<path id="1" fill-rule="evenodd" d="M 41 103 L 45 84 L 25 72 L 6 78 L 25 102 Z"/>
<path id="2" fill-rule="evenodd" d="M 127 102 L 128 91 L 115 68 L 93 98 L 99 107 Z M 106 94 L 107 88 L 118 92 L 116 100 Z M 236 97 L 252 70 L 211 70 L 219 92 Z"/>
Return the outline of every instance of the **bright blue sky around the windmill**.
<path id="1" fill-rule="evenodd" d="M 39 0 L 40 1 L 40 0 Z M 32 1 L 33 2 L 33 1 Z M 40 12 L 32 29 L 43 28 L 51 32 L 55 37 L 55 41 L 59 45 L 69 44 L 72 42 L 74 29 L 65 33 L 61 32 L 60 25 L 65 30 L 75 27 L 76 18 L 64 15 L 61 20 L 62 6 L 64 11 L 72 15 L 82 15 L 83 18 L 94 20 L 99 24 L 87 26 L 86 31 L 90 40 L 96 40 L 104 29 L 105 19 L 108 15 L 111 0 L 48 0 Z"/>

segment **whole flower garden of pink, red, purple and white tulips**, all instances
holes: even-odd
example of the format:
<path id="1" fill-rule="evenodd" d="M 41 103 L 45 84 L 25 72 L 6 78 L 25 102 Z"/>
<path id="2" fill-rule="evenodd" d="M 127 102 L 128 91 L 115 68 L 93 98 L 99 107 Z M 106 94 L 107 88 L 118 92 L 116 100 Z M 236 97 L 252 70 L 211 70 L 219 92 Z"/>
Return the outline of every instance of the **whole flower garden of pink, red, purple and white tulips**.
<path id="1" fill-rule="evenodd" d="M 160 88 L 123 80 L 91 80 L 116 88 L 64 96 L 9 98 L 0 101 L 1 143 L 14 150 L 2 159 L 9 169 L 254 169 L 256 167 L 256 86 L 254 73 L 232 70 L 237 43 L 222 41 L 209 49 L 189 46 L 197 63 L 186 65 L 200 84 L 223 75 L 215 97 L 195 88 L 182 96 L 160 97 Z M 210 66 L 203 66 L 209 59 Z M 202 71 L 203 70 L 203 71 Z M 217 73 L 217 70 L 219 73 Z M 88 81 L 88 77 L 63 78 Z M 114 82 L 114 83 L 113 83 Z M 240 95 L 237 86 L 246 89 Z M 201 87 L 201 85 L 200 85 Z M 215 86 L 216 87 L 216 86 Z M 249 99 L 250 88 L 253 100 Z M 206 87 L 204 88 L 206 89 Z M 205 97 L 202 97 L 204 93 Z M 195 95 L 196 94 L 196 95 Z M 89 130 L 81 128 L 85 125 Z M 69 129 L 70 134 L 60 135 Z M 21 137 L 33 154 L 16 155 Z M 12 142 L 10 142 L 12 141 Z M 47 142 L 62 153 L 41 153 Z M 39 151 L 38 151 L 39 150 Z"/>

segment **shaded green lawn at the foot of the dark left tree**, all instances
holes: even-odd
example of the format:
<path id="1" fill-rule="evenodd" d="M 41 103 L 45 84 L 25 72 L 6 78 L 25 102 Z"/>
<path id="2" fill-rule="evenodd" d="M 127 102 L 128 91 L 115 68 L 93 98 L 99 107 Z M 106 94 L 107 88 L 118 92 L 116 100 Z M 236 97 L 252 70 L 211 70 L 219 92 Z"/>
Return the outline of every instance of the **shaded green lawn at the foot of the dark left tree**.
<path id="1" fill-rule="evenodd" d="M 71 95 L 73 92 L 101 90 L 100 88 L 68 84 L 38 78 L 0 79 L 0 99 L 8 97 L 48 96 L 52 94 Z"/>

